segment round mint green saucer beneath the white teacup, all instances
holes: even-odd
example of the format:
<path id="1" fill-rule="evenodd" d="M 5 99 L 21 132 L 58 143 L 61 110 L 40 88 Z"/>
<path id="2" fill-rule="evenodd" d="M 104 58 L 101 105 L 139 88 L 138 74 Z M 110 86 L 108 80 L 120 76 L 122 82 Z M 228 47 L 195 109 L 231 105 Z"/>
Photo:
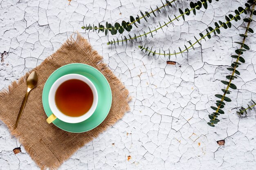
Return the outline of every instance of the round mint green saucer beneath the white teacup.
<path id="1" fill-rule="evenodd" d="M 80 123 L 70 124 L 61 121 L 58 118 L 54 120 L 52 123 L 56 125 L 58 128 L 61 128 L 62 130 L 74 133 L 86 132 L 88 130 L 96 128 L 108 115 L 112 103 L 112 93 L 108 81 L 104 77 L 104 75 L 96 68 L 86 64 L 67 64 L 65 66 L 62 66 L 61 68 L 58 68 L 56 71 L 52 73 L 52 75 L 50 75 L 43 88 L 42 96 L 43 107 L 45 109 L 46 115 L 48 117 L 52 115 L 52 111 L 49 107 L 48 102 L 50 88 L 59 77 L 66 74 L 80 74 L 90 79 L 98 92 L 98 105 L 92 116 Z"/>

